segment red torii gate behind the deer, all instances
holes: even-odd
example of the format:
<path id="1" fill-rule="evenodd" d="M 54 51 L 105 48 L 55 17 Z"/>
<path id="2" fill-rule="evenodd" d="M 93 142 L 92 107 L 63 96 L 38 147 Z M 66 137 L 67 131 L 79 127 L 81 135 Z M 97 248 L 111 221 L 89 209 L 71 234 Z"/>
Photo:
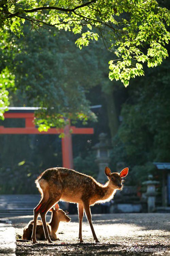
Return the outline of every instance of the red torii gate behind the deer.
<path id="1" fill-rule="evenodd" d="M 70 129 L 72 134 L 93 134 L 93 128 L 77 128 L 75 126 L 67 125 L 64 129 L 51 128 L 47 132 L 39 132 L 38 128 L 35 127 L 34 120 L 34 110 L 38 108 L 21 107 L 8 108 L 9 111 L 5 112 L 5 118 L 24 118 L 25 127 L 20 128 L 5 128 L 0 126 L 0 134 L 60 134 L 64 132 L 65 136 L 62 138 L 62 160 L 63 167 L 73 169 L 73 152 L 72 152 L 72 138 L 70 134 Z"/>

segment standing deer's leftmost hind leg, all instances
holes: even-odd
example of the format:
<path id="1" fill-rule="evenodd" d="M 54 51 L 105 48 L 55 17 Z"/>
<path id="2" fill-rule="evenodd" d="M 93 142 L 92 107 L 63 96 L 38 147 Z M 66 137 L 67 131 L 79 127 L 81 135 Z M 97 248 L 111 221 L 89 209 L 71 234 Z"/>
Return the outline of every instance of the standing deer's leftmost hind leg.
<path id="1" fill-rule="evenodd" d="M 34 208 L 34 223 L 33 223 L 33 231 L 32 231 L 32 242 L 37 243 L 36 240 L 36 225 L 37 225 L 37 218 L 40 212 L 40 208 L 48 201 L 49 195 L 48 193 L 44 193 L 43 198 L 39 202 L 39 204 Z"/>

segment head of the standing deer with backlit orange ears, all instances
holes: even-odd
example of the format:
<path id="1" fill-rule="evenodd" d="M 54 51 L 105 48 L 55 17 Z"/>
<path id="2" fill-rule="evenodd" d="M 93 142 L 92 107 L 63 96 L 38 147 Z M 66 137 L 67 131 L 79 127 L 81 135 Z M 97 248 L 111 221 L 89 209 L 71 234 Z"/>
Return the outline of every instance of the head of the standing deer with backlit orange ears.
<path id="1" fill-rule="evenodd" d="M 128 174 L 128 171 L 128 167 L 124 168 L 120 173 L 111 172 L 111 169 L 107 166 L 105 168 L 105 174 L 114 189 L 122 189 L 122 178 Z"/>

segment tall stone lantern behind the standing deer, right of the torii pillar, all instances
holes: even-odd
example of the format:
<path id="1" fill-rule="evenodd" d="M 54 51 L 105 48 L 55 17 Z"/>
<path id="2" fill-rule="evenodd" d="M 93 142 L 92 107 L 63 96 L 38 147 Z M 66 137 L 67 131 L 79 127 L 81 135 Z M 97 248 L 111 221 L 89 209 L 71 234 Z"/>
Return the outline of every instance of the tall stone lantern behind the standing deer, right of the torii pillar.
<path id="1" fill-rule="evenodd" d="M 110 154 L 109 149 L 112 147 L 111 143 L 107 139 L 106 133 L 99 134 L 99 143 L 92 147 L 93 150 L 96 150 L 96 160 L 95 162 L 99 166 L 99 174 L 97 177 L 97 181 L 100 183 L 104 183 L 106 181 L 106 175 L 104 173 L 105 167 L 109 165 Z"/>

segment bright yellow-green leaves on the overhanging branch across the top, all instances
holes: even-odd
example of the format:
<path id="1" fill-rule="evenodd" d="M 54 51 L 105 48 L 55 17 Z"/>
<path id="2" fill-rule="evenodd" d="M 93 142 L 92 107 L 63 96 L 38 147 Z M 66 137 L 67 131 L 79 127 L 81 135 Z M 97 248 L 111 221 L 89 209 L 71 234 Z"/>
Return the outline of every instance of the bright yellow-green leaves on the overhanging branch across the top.
<path id="1" fill-rule="evenodd" d="M 2 1 L 0 11 L 1 31 L 10 29 L 18 36 L 28 20 L 36 30 L 45 26 L 81 33 L 76 40 L 80 48 L 101 37 L 118 57 L 109 61 L 109 78 L 125 86 L 144 74 L 143 63 L 154 67 L 168 56 L 170 15 L 155 0 L 10 0 Z"/>

